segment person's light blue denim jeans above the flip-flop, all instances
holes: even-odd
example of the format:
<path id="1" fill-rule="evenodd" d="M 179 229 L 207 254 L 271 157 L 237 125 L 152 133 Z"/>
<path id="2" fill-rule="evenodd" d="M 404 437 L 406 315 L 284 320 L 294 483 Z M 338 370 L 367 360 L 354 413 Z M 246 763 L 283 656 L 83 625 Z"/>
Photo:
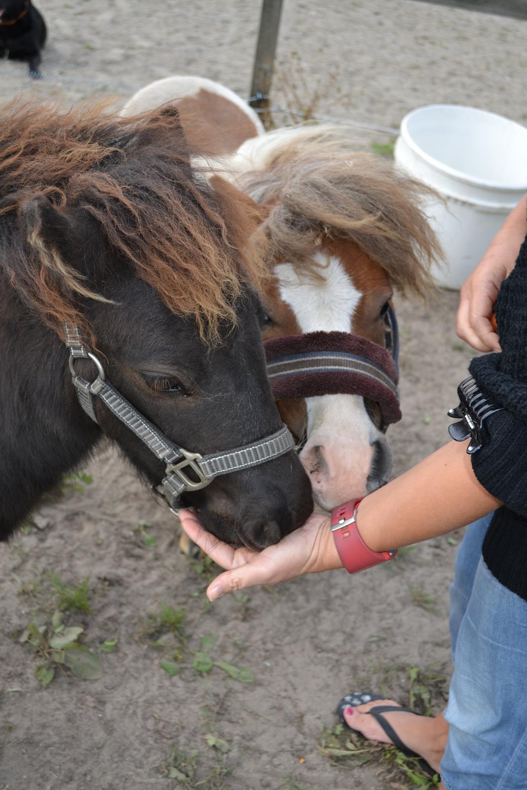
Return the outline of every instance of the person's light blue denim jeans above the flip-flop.
<path id="1" fill-rule="evenodd" d="M 481 556 L 490 521 L 469 526 L 450 588 L 455 668 L 441 762 L 446 790 L 527 788 L 527 602 Z"/>

